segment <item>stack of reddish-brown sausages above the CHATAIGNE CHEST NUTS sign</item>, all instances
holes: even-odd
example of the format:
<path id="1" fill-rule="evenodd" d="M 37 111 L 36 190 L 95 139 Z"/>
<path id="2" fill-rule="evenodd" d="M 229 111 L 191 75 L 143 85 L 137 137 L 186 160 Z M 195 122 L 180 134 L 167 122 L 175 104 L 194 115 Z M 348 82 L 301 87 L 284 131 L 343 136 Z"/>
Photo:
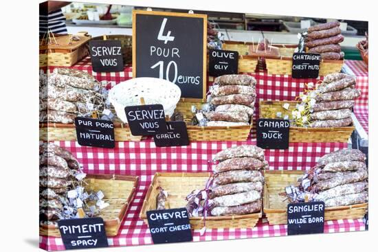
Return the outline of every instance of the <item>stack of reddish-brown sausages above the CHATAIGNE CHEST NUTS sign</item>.
<path id="1" fill-rule="evenodd" d="M 307 30 L 309 53 L 318 53 L 323 60 L 342 60 L 344 53 L 339 43 L 344 41 L 340 23 L 337 21 L 313 25 Z"/>

